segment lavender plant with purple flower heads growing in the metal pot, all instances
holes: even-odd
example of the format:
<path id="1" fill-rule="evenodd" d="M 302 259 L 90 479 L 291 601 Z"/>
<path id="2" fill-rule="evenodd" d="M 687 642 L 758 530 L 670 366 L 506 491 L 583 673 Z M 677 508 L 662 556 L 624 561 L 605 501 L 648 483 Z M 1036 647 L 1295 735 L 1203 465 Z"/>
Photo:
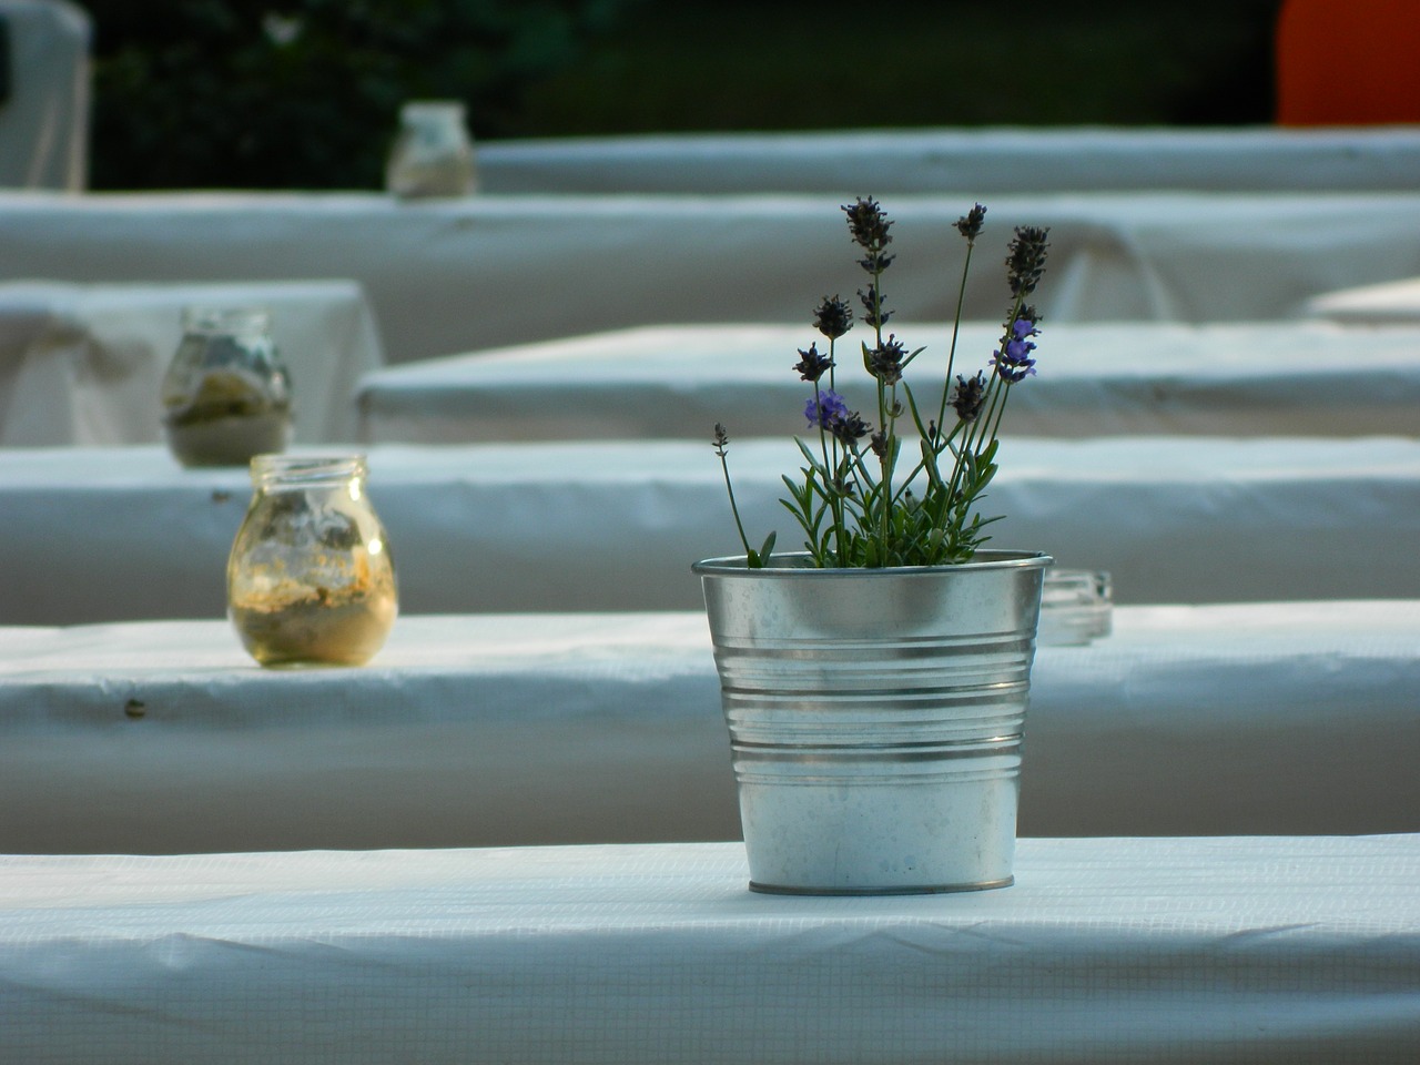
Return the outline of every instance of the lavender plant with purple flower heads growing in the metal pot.
<path id="1" fill-rule="evenodd" d="M 872 329 L 863 341 L 862 365 L 875 385 L 876 409 L 869 422 L 852 410 L 836 390 L 838 341 L 853 327 L 853 311 L 839 297 L 824 297 L 814 311 L 814 325 L 826 339 L 799 349 L 794 369 L 812 385 L 804 405 L 808 427 L 816 430 L 795 443 L 805 464 L 799 479 L 784 477 L 788 497 L 781 503 L 804 531 L 804 548 L 815 567 L 876 568 L 967 562 L 990 537 L 978 508 L 995 477 L 997 436 L 1011 389 L 1035 375 L 1035 337 L 1039 314 L 1027 298 L 1045 271 L 1049 230 L 1017 227 L 1005 258 L 1011 304 L 997 351 L 987 369 L 973 376 L 954 373 L 957 335 L 971 251 L 985 222 L 985 207 L 974 204 L 957 220 L 966 256 L 957 288 L 940 393 L 919 402 L 903 372 L 926 348 L 907 349 L 885 327 L 890 318 L 883 295 L 883 274 L 892 266 L 892 220 L 872 197 L 843 206 L 853 244 L 862 251 L 858 264 L 868 284 L 858 291 L 862 321 Z M 950 412 L 950 415 L 949 415 Z M 947 427 L 947 423 L 951 423 Z M 740 542 L 750 568 L 765 565 L 775 534 L 750 547 L 734 500 L 727 450 L 730 437 L 720 423 L 714 447 L 724 471 Z"/>

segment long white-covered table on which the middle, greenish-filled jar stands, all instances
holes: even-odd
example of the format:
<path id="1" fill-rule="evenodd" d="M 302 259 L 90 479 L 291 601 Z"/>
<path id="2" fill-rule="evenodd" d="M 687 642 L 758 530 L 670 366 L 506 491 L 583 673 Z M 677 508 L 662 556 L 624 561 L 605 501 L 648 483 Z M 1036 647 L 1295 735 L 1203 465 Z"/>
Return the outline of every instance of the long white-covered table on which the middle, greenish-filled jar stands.
<path id="1" fill-rule="evenodd" d="M 1003 442 L 991 547 L 1106 569 L 1119 602 L 1420 598 L 1420 440 Z M 791 440 L 730 444 L 750 535 L 801 542 Z M 160 446 L 0 452 L 0 623 L 220 618 L 251 488 Z M 410 613 L 692 609 L 738 547 L 709 439 L 369 449 Z"/>

